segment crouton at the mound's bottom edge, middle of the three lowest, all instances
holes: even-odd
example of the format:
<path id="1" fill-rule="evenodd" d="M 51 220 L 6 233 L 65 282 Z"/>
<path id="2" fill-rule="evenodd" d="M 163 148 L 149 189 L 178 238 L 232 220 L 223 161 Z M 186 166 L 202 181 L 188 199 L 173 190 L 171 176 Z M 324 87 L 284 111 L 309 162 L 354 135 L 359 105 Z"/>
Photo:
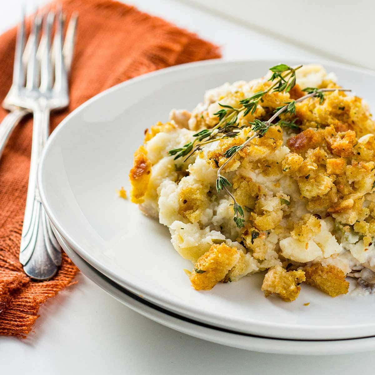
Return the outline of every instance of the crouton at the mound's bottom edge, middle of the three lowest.
<path id="1" fill-rule="evenodd" d="M 297 299 L 301 290 L 299 284 L 303 281 L 305 281 L 305 272 L 302 270 L 288 272 L 281 266 L 275 266 L 264 276 L 262 290 L 266 297 L 275 293 L 282 300 L 291 302 Z"/>

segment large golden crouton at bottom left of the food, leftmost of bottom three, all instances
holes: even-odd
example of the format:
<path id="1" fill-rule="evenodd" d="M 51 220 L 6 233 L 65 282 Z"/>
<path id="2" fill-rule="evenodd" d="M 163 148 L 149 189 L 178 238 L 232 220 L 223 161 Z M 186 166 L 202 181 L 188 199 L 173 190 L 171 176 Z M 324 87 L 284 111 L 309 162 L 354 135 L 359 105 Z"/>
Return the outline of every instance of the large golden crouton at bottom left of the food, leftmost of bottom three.
<path id="1" fill-rule="evenodd" d="M 190 275 L 190 282 L 196 290 L 210 290 L 238 262 L 240 253 L 236 248 L 230 248 L 221 243 L 212 245 L 210 250 L 198 258 Z"/>

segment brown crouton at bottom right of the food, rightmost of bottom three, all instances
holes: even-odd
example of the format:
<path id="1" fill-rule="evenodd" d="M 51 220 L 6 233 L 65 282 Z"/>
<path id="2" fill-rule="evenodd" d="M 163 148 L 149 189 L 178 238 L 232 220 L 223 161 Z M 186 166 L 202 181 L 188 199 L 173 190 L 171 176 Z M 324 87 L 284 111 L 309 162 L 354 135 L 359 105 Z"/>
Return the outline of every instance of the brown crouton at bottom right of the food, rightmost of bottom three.
<path id="1" fill-rule="evenodd" d="M 338 267 L 322 266 L 313 264 L 303 269 L 306 275 L 306 282 L 315 288 L 320 289 L 331 297 L 337 297 L 340 294 L 347 294 L 349 283 L 345 280 L 344 272 Z"/>

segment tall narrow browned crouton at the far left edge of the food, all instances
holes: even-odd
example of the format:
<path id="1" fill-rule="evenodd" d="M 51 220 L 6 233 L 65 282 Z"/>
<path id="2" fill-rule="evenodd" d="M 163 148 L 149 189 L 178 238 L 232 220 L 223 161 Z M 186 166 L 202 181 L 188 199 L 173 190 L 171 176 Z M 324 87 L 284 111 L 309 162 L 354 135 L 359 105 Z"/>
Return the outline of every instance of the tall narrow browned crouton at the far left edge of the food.
<path id="1" fill-rule="evenodd" d="M 132 184 L 130 196 L 133 203 L 142 203 L 151 177 L 151 162 L 147 159 L 147 151 L 140 146 L 134 153 L 133 168 L 130 169 L 129 178 Z"/>

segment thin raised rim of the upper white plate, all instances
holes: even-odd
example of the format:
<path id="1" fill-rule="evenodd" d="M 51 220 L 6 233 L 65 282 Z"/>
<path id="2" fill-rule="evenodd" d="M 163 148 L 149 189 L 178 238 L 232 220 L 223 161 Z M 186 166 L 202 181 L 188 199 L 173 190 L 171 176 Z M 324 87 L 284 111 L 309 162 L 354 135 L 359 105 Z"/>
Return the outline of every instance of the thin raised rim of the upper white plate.
<path id="1" fill-rule="evenodd" d="M 296 62 L 296 60 L 293 60 L 293 59 L 284 59 L 284 60 L 287 60 L 287 63 L 289 63 L 290 65 L 294 65 L 294 63 Z M 139 286 L 134 284 L 134 282 L 125 279 L 121 275 L 117 275 L 117 273 L 114 273 L 110 269 L 107 269 L 107 267 L 103 267 L 101 265 L 100 261 L 96 260 L 95 257 L 92 257 L 89 252 L 86 252 L 82 246 L 80 246 L 77 242 L 75 242 L 75 240 L 71 236 L 69 236 L 69 233 L 67 233 L 65 231 L 65 229 L 58 222 L 58 220 L 57 220 L 56 216 L 54 215 L 52 208 L 49 206 L 48 200 L 46 198 L 46 192 L 43 188 L 43 183 L 42 183 L 42 169 L 43 169 L 43 165 L 44 165 L 44 160 L 46 158 L 46 155 L 48 153 L 50 145 L 52 144 L 54 139 L 58 136 L 61 129 L 63 129 L 63 127 L 70 121 L 70 119 L 72 117 L 74 117 L 80 111 L 84 110 L 84 108 L 86 108 L 87 106 L 89 106 L 93 102 L 101 99 L 103 96 L 106 96 L 106 95 L 108 95 L 108 94 L 110 94 L 114 91 L 121 90 L 123 87 L 130 86 L 132 84 L 136 84 L 138 81 L 147 80 L 147 79 L 152 78 L 154 76 L 159 77 L 159 76 L 162 76 L 162 75 L 169 74 L 171 72 L 183 71 L 185 69 L 192 69 L 192 68 L 195 68 L 195 67 L 199 68 L 199 67 L 212 66 L 212 65 L 232 65 L 232 64 L 246 64 L 246 63 L 263 63 L 264 65 L 266 65 L 266 64 L 269 65 L 269 64 L 275 64 L 275 63 L 277 63 L 277 61 L 278 60 L 276 60 L 276 59 L 242 59 L 242 60 L 215 59 L 215 60 L 205 60 L 205 61 L 194 62 L 194 63 L 186 63 L 186 64 L 172 66 L 172 67 L 165 68 L 165 69 L 160 69 L 158 71 L 150 72 L 150 73 L 141 75 L 139 77 L 135 77 L 135 78 L 132 78 L 130 80 L 124 81 L 122 83 L 119 83 L 119 84 L 117 84 L 113 87 L 110 87 L 109 89 L 106 89 L 103 92 L 98 93 L 97 95 L 93 96 L 93 98 L 90 98 L 89 100 L 87 100 L 86 102 L 81 104 L 79 107 L 77 107 L 70 114 L 68 114 L 60 122 L 60 124 L 58 124 L 58 126 L 55 128 L 55 130 L 52 132 L 51 136 L 48 138 L 48 141 L 45 145 L 45 148 L 43 149 L 43 152 L 42 152 L 42 155 L 41 155 L 41 158 L 40 158 L 38 173 L 37 173 L 37 183 L 38 183 L 38 187 L 39 187 L 40 198 L 41 198 L 43 207 L 44 207 L 49 219 L 51 220 L 53 225 L 57 228 L 58 232 L 61 233 L 63 235 L 63 237 L 66 239 L 66 242 L 69 244 L 69 246 L 71 246 L 77 252 L 77 254 L 79 254 L 84 260 L 86 260 L 89 264 L 91 264 L 95 269 L 99 270 L 101 273 L 105 274 L 104 271 L 107 270 L 107 273 L 106 273 L 107 277 L 114 280 L 118 284 L 122 285 L 123 287 L 126 286 L 126 288 L 128 288 L 129 290 L 131 290 L 131 291 L 133 291 L 137 294 L 143 294 L 144 296 L 147 296 L 148 300 L 156 303 L 157 305 L 167 306 L 168 310 L 175 311 L 178 314 L 181 314 L 182 313 L 181 308 L 178 308 L 178 306 L 175 306 L 174 303 L 171 304 L 171 300 L 164 299 L 160 295 L 159 296 L 154 295 L 153 293 L 150 293 L 147 289 L 139 288 Z M 337 68 L 347 69 L 347 70 L 356 71 L 356 72 L 368 74 L 368 75 L 371 75 L 371 76 L 375 77 L 375 72 L 370 70 L 370 69 L 357 68 L 356 66 L 352 66 L 352 65 L 348 65 L 348 64 L 330 62 L 329 60 L 324 61 L 324 60 L 320 60 L 320 59 L 319 60 L 318 59 L 311 59 L 311 60 L 309 59 L 309 63 L 319 63 L 321 65 L 327 64 L 327 65 L 330 65 L 330 67 L 333 67 L 333 68 L 337 67 Z M 183 311 L 184 311 L 184 315 L 189 316 L 190 318 L 196 319 L 196 317 L 197 317 L 196 310 L 187 309 L 184 306 Z M 202 314 L 200 314 L 200 315 L 202 315 Z M 217 324 L 218 326 L 223 326 L 222 324 L 220 324 L 221 319 L 218 320 L 217 317 L 212 319 L 213 315 L 209 315 L 209 317 L 210 317 L 210 323 L 215 321 L 215 324 Z M 204 316 L 199 317 L 199 319 L 207 322 L 207 320 L 205 320 Z M 281 327 L 284 330 L 285 329 L 300 329 L 301 328 L 299 325 L 295 325 L 295 324 L 284 325 L 284 324 L 277 324 L 277 323 L 275 324 L 275 323 L 272 323 L 272 322 L 267 322 L 267 323 L 257 322 L 256 324 L 257 324 L 258 327 L 267 327 L 268 329 L 272 328 L 272 329 L 276 329 L 276 330 L 280 329 Z M 359 328 L 361 326 L 362 327 L 369 327 L 368 324 L 358 324 L 355 327 Z M 374 325 L 374 327 L 375 327 L 375 325 Z M 327 327 L 327 326 L 313 326 L 313 327 L 304 327 L 304 329 L 306 330 L 306 332 L 315 332 L 316 330 L 327 330 L 327 329 L 329 329 L 329 327 Z M 335 326 L 335 330 L 340 330 L 340 329 L 348 330 L 348 327 L 345 326 L 345 325 Z M 248 333 L 250 333 L 250 332 L 248 332 Z M 366 338 L 375 337 L 375 335 L 372 335 L 372 336 L 356 336 L 355 338 L 357 339 L 357 338 L 365 338 L 365 337 Z M 351 337 L 351 338 L 354 338 L 354 337 Z"/>

